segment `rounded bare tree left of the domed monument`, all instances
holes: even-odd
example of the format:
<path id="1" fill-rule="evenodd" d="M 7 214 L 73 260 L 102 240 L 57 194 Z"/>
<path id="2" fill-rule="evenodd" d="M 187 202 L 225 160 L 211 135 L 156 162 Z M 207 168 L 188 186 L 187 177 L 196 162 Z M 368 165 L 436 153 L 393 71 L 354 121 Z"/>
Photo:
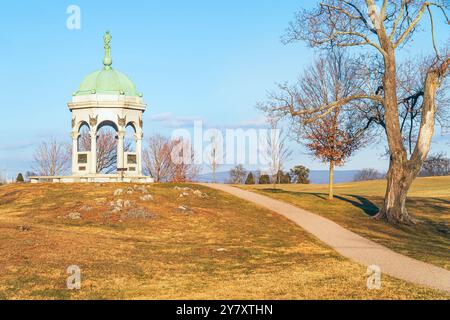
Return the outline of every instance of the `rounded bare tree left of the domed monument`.
<path id="1" fill-rule="evenodd" d="M 70 168 L 71 148 L 55 139 L 42 142 L 34 153 L 33 171 L 41 176 L 57 176 Z"/>

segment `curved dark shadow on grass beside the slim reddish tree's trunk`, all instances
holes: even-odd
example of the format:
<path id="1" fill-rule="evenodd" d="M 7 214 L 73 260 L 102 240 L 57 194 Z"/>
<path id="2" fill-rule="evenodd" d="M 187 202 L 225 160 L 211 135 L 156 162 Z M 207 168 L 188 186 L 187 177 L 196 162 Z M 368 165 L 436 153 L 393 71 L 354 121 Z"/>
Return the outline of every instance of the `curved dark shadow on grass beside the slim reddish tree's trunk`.
<path id="1" fill-rule="evenodd" d="M 328 195 L 325 193 L 314 193 L 314 192 L 294 192 L 294 191 L 286 191 L 281 189 L 263 189 L 264 192 L 273 193 L 273 194 L 288 194 L 292 196 L 300 196 L 300 195 L 307 195 L 307 196 L 314 196 L 317 198 L 320 198 L 321 200 L 327 200 Z M 345 195 L 335 196 L 336 199 L 339 199 L 341 201 L 350 203 L 351 205 L 357 207 L 358 209 L 362 210 L 366 215 L 369 217 L 374 217 L 379 212 L 379 208 L 375 203 L 370 201 L 369 199 L 357 196 L 357 195 Z M 354 200 L 353 200 L 354 199 Z"/>

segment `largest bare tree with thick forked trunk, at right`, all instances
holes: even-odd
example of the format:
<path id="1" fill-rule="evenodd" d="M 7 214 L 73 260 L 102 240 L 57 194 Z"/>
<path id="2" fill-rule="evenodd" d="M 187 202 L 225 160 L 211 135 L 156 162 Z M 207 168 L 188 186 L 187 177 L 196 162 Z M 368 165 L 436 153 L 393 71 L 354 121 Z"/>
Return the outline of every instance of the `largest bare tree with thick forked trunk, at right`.
<path id="1" fill-rule="evenodd" d="M 448 9 L 447 1 L 383 0 L 381 8 L 377 9 L 375 0 L 324 0 L 316 9 L 298 14 L 285 38 L 286 42 L 302 40 L 312 47 L 325 50 L 333 46 L 371 48 L 382 60 L 381 81 L 375 90 L 361 86 L 360 90 L 314 110 L 297 108 L 298 101 L 276 107 L 292 116 L 314 115 L 314 118 L 320 118 L 349 103 L 365 101 L 366 104 L 380 106 L 384 114 L 390 166 L 385 201 L 378 219 L 387 219 L 392 223 L 414 223 L 406 208 L 406 198 L 430 150 L 438 112 L 436 95 L 448 75 L 450 63 L 448 48 L 442 52 L 438 50 L 434 21 L 439 12 L 449 24 Z M 421 105 L 415 147 L 408 156 L 400 123 L 401 95 L 396 53 L 414 39 L 426 15 L 431 23 L 429 47 L 435 54 L 426 69 L 416 70 L 423 72 L 423 81 L 417 92 L 406 98 L 414 101 L 420 97 Z M 366 64 L 371 62 L 366 61 Z M 376 75 L 372 76 L 376 78 Z"/>

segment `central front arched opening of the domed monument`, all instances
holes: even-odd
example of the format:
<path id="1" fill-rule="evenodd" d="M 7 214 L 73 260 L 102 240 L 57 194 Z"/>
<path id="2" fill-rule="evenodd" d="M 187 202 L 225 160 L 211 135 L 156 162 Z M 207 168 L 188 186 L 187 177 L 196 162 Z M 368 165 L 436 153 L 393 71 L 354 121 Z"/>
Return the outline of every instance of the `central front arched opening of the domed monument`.
<path id="1" fill-rule="evenodd" d="M 102 122 L 97 128 L 97 173 L 117 173 L 117 132 L 112 121 Z"/>

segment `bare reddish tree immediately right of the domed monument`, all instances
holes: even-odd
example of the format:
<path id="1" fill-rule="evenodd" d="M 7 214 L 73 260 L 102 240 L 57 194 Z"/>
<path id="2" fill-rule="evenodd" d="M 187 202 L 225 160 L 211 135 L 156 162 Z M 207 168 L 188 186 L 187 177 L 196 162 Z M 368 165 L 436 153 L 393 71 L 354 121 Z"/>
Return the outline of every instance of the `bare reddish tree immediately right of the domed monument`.
<path id="1" fill-rule="evenodd" d="M 167 182 L 171 176 L 172 146 L 168 138 L 155 135 L 148 139 L 148 146 L 143 151 L 144 172 L 155 182 Z"/>

